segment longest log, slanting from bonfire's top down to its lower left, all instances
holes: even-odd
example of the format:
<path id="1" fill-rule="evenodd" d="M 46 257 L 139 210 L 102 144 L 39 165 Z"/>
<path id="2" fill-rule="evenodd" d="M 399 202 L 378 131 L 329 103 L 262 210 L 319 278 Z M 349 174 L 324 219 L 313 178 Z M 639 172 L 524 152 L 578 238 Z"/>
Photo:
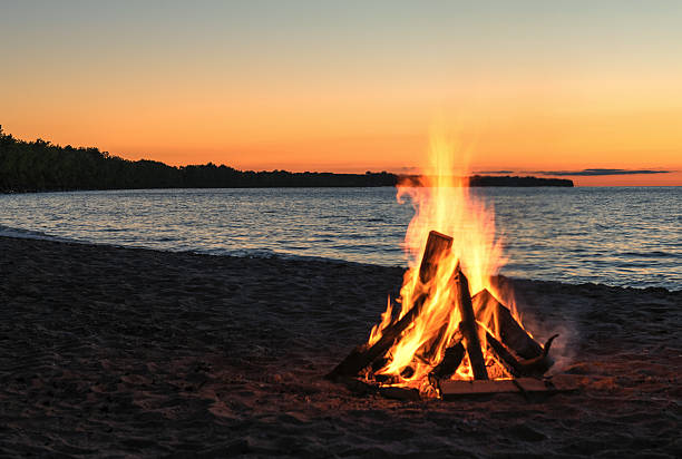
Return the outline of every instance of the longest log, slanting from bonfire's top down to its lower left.
<path id="1" fill-rule="evenodd" d="M 427 240 L 427 245 L 421 257 L 419 266 L 419 279 L 423 284 L 428 284 L 432 275 L 436 273 L 438 260 L 442 256 L 442 252 L 449 251 L 452 246 L 452 238 L 438 232 L 430 232 Z M 351 351 L 329 374 L 327 379 L 335 380 L 339 377 L 354 377 L 366 367 L 371 364 L 376 359 L 382 357 L 393 345 L 396 340 L 402 332 L 417 319 L 423 303 L 428 297 L 428 293 L 422 293 L 412 303 L 412 307 L 393 324 L 387 326 L 379 341 L 372 346 L 367 344 L 360 345 Z"/>

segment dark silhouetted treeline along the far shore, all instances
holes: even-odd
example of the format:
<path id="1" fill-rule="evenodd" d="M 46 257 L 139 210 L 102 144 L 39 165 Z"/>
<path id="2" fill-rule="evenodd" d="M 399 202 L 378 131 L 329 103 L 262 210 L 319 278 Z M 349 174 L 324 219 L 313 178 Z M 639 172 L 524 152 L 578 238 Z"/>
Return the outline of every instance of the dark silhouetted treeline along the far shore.
<path id="1" fill-rule="evenodd" d="M 0 193 L 75 189 L 373 187 L 394 186 L 394 174 L 290 173 L 237 170 L 212 163 L 168 166 L 128 160 L 98 148 L 61 147 L 37 139 L 25 141 L 0 126 Z M 471 177 L 471 186 L 573 186 L 571 180 L 536 177 Z M 557 185 L 556 183 L 562 183 Z"/>

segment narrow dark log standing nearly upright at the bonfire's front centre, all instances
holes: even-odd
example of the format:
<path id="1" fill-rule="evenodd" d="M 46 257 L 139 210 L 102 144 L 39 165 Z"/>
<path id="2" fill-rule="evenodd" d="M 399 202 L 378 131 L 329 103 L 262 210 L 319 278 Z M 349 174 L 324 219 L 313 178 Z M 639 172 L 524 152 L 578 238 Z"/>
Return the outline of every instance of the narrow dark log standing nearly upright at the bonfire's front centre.
<path id="1" fill-rule="evenodd" d="M 461 332 L 474 371 L 474 379 L 487 380 L 488 371 L 486 370 L 486 361 L 480 349 L 480 340 L 478 339 L 478 325 L 474 315 L 474 306 L 471 305 L 471 294 L 469 293 L 469 281 L 458 266 L 455 270 L 455 282 L 457 284 L 457 295 L 459 299 L 459 312 L 461 322 L 459 331 Z"/>

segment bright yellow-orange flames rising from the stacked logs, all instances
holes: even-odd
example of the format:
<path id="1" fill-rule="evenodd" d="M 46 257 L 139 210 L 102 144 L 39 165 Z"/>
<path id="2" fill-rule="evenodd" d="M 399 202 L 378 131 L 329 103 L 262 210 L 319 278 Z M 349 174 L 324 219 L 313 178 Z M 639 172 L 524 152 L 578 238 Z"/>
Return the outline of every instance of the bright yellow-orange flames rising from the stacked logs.
<path id="1" fill-rule="evenodd" d="M 455 144 L 437 135 L 431 139 L 429 165 L 422 174 L 398 185 L 398 202 L 402 204 L 409 199 L 415 207 L 415 216 L 405 238 L 403 248 L 408 255 L 409 268 L 400 290 L 398 303 L 401 309 L 397 320 L 407 314 L 418 299 L 423 301 L 425 292 L 429 294 L 421 306 L 421 313 L 388 352 L 386 365 L 376 372 L 391 377 L 392 384 L 422 385 L 458 333 L 461 316 L 457 286 L 452 282 L 456 270 L 461 268 L 467 275 L 471 295 L 487 289 L 494 296 L 505 297 L 514 315 L 520 319 L 507 292 L 499 291 L 491 282 L 491 276 L 505 263 L 501 241 L 496 237 L 493 207 L 471 193 L 467 183 L 468 175 L 469 170 Z M 450 251 L 440 254 L 435 263 L 435 274 L 423 285 L 419 266 L 430 231 L 451 236 L 452 246 Z M 371 330 L 369 345 L 381 338 L 382 331 L 391 323 L 391 315 L 392 304 L 389 299 L 381 322 Z M 484 357 L 488 368 L 491 368 L 494 358 L 486 351 L 485 331 L 499 336 L 496 318 L 491 313 L 477 311 L 477 319 L 483 325 L 479 331 L 484 330 L 479 333 Z M 491 379 L 506 377 L 508 374 L 504 369 L 490 373 Z M 452 378 L 472 379 L 468 355 L 465 355 Z"/>

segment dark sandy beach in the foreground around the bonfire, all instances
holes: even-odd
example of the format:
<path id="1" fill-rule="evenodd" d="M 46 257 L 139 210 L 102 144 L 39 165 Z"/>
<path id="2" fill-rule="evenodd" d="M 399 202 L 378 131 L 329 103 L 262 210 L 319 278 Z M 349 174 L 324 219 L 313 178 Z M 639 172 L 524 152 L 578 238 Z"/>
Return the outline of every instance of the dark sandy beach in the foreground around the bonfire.
<path id="1" fill-rule="evenodd" d="M 400 282 L 0 237 L 0 456 L 682 456 L 681 292 L 514 281 L 577 393 L 406 402 L 322 380 Z"/>

